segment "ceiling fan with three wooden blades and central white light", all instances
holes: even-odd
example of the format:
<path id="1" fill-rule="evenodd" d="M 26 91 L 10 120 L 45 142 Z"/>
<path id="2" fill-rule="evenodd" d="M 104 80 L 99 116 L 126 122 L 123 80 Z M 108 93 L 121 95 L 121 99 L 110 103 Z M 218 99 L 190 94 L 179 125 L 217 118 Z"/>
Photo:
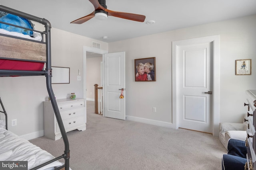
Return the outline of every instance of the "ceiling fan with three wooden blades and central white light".
<path id="1" fill-rule="evenodd" d="M 133 20 L 133 21 L 139 21 L 139 22 L 144 22 L 146 18 L 146 16 L 139 15 L 139 14 L 108 10 L 106 6 L 106 0 L 89 0 L 89 1 L 93 4 L 95 10 L 91 14 L 84 16 L 82 18 L 79 18 L 77 20 L 74 20 L 70 23 L 81 24 L 92 19 L 94 16 L 100 16 L 102 18 L 107 18 L 108 16 L 114 16 L 118 18 L 124 18 L 127 20 Z"/>

